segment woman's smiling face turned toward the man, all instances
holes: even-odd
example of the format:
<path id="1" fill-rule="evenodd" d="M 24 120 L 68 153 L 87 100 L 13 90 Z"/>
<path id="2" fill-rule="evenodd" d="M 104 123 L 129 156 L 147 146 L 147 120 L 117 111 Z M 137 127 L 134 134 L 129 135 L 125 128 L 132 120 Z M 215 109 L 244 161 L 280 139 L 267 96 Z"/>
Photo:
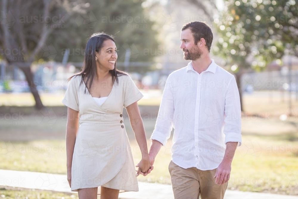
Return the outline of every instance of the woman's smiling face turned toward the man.
<path id="1" fill-rule="evenodd" d="M 118 57 L 117 47 L 115 42 L 108 39 L 103 42 L 103 47 L 99 53 L 95 53 L 97 57 L 96 65 L 102 69 L 113 70 L 115 67 L 115 62 Z"/>

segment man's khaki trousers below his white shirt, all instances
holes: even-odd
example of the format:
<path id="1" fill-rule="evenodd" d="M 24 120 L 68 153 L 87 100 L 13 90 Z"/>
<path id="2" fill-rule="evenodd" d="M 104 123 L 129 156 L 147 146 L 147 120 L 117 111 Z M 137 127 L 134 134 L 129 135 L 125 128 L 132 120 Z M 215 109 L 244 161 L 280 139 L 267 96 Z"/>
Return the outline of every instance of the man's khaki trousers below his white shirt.
<path id="1" fill-rule="evenodd" d="M 202 171 L 195 167 L 183 169 L 172 161 L 169 172 L 175 199 L 223 199 L 228 182 L 215 184 L 216 169 Z"/>

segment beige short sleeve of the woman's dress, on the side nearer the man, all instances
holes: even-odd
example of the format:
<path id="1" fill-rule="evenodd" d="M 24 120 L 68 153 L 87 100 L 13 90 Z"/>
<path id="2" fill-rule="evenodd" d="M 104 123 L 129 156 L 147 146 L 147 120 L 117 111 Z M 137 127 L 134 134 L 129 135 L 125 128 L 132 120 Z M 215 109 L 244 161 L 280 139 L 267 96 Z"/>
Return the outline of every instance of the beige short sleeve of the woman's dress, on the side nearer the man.
<path id="1" fill-rule="evenodd" d="M 123 104 L 125 108 L 144 97 L 144 95 L 139 91 L 138 87 L 136 87 L 136 84 L 131 77 L 129 75 L 127 76 Z"/>

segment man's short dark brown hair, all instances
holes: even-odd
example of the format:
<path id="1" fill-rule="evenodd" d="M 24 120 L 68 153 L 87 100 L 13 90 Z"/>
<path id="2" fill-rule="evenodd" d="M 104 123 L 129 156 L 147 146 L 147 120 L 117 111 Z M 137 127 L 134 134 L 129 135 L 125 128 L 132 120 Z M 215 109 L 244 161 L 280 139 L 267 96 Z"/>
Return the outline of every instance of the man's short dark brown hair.
<path id="1" fill-rule="evenodd" d="M 186 30 L 187 28 L 193 33 L 193 38 L 195 39 L 195 44 L 198 44 L 198 41 L 201 38 L 204 38 L 206 41 L 206 46 L 208 51 L 210 52 L 211 44 L 213 41 L 213 33 L 208 24 L 205 21 L 190 21 L 183 25 L 182 30 Z"/>

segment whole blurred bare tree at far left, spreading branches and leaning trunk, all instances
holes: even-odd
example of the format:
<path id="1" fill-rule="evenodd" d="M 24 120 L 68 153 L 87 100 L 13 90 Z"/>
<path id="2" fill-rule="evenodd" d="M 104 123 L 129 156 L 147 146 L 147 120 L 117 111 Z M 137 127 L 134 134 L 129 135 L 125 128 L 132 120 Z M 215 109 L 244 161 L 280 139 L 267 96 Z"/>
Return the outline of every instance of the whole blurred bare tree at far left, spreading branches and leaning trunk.
<path id="1" fill-rule="evenodd" d="M 73 13 L 82 11 L 83 5 L 85 4 L 75 0 L 2 0 L 1 2 L 0 45 L 4 51 L 3 59 L 24 72 L 37 109 L 43 108 L 44 105 L 36 90 L 30 66 L 37 55 L 42 53 L 49 35 L 62 23 L 66 23 Z M 61 15 L 63 19 L 60 19 Z M 54 18 L 59 18 L 59 22 L 55 23 Z M 48 22 L 46 19 L 51 20 Z"/>

